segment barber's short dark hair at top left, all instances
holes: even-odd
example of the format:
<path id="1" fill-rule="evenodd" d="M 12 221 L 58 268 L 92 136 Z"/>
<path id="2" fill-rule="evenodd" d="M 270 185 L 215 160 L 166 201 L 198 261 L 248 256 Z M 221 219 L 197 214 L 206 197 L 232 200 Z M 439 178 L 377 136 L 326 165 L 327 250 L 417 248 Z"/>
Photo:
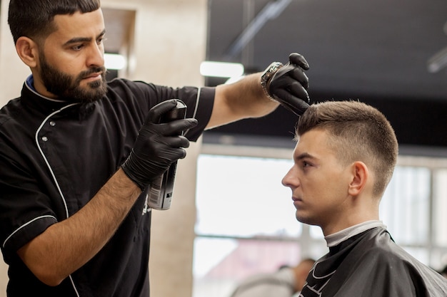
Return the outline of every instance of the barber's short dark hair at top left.
<path id="1" fill-rule="evenodd" d="M 54 16 L 96 11 L 100 0 L 11 0 L 8 24 L 14 43 L 21 36 L 43 41 L 56 31 Z"/>

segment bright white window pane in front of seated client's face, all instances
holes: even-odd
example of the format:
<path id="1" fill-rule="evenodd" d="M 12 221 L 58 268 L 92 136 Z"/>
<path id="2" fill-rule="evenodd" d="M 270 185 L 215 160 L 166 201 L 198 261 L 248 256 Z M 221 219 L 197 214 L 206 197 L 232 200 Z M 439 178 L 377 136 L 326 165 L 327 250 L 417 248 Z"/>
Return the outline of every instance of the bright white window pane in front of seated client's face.
<path id="1" fill-rule="evenodd" d="M 236 237 L 301 233 L 290 189 L 281 184 L 291 160 L 201 155 L 198 162 L 197 233 Z"/>

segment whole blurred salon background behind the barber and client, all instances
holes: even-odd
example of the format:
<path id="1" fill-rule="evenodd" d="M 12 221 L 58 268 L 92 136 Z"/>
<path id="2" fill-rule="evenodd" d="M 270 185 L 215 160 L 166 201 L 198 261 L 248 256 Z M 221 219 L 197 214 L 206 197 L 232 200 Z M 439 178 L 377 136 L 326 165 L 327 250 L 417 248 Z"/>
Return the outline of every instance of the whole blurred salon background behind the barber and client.
<path id="1" fill-rule="evenodd" d="M 0 3 L 2 106 L 30 73 L 9 33 L 9 1 Z M 447 265 L 447 1 L 101 3 L 109 79 L 217 85 L 286 63 L 296 51 L 311 65 L 312 102 L 353 99 L 381 110 L 400 143 L 381 219 L 417 259 L 438 271 Z M 216 73 L 221 68 L 227 72 Z M 153 213 L 152 296 L 227 297 L 247 276 L 326 253 L 321 230 L 296 221 L 290 189 L 281 185 L 296 120 L 278 108 L 191 145 L 171 209 Z"/>

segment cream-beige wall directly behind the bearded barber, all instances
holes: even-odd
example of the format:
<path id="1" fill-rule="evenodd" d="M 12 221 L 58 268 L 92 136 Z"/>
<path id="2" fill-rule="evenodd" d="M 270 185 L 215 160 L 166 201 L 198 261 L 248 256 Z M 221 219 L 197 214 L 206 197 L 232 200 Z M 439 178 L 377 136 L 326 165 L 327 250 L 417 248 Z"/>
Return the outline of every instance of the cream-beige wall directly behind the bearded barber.
<path id="1" fill-rule="evenodd" d="M 4 0 L 0 17 L 0 105 L 20 95 L 30 71 L 17 58 L 7 26 Z M 199 64 L 206 52 L 206 0 L 102 0 L 108 8 L 135 9 L 135 68 L 129 78 L 161 85 L 203 85 Z M 195 172 L 200 141 L 181 160 L 171 209 L 154 211 L 151 235 L 151 296 L 189 297 L 195 223 Z M 0 297 L 6 296 L 6 266 L 0 267 Z"/>

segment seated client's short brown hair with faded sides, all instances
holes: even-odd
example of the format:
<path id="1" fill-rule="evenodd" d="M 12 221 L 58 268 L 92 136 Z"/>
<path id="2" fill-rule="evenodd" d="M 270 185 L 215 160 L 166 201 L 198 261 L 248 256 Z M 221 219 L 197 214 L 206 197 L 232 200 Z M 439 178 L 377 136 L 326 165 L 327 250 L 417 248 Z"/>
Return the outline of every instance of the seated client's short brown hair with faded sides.
<path id="1" fill-rule="evenodd" d="M 398 155 L 396 135 L 385 116 L 365 103 L 327 101 L 313 104 L 303 113 L 296 137 L 318 128 L 328 132 L 328 145 L 343 164 L 362 161 L 373 170 L 373 194 L 380 197 L 393 175 Z"/>

